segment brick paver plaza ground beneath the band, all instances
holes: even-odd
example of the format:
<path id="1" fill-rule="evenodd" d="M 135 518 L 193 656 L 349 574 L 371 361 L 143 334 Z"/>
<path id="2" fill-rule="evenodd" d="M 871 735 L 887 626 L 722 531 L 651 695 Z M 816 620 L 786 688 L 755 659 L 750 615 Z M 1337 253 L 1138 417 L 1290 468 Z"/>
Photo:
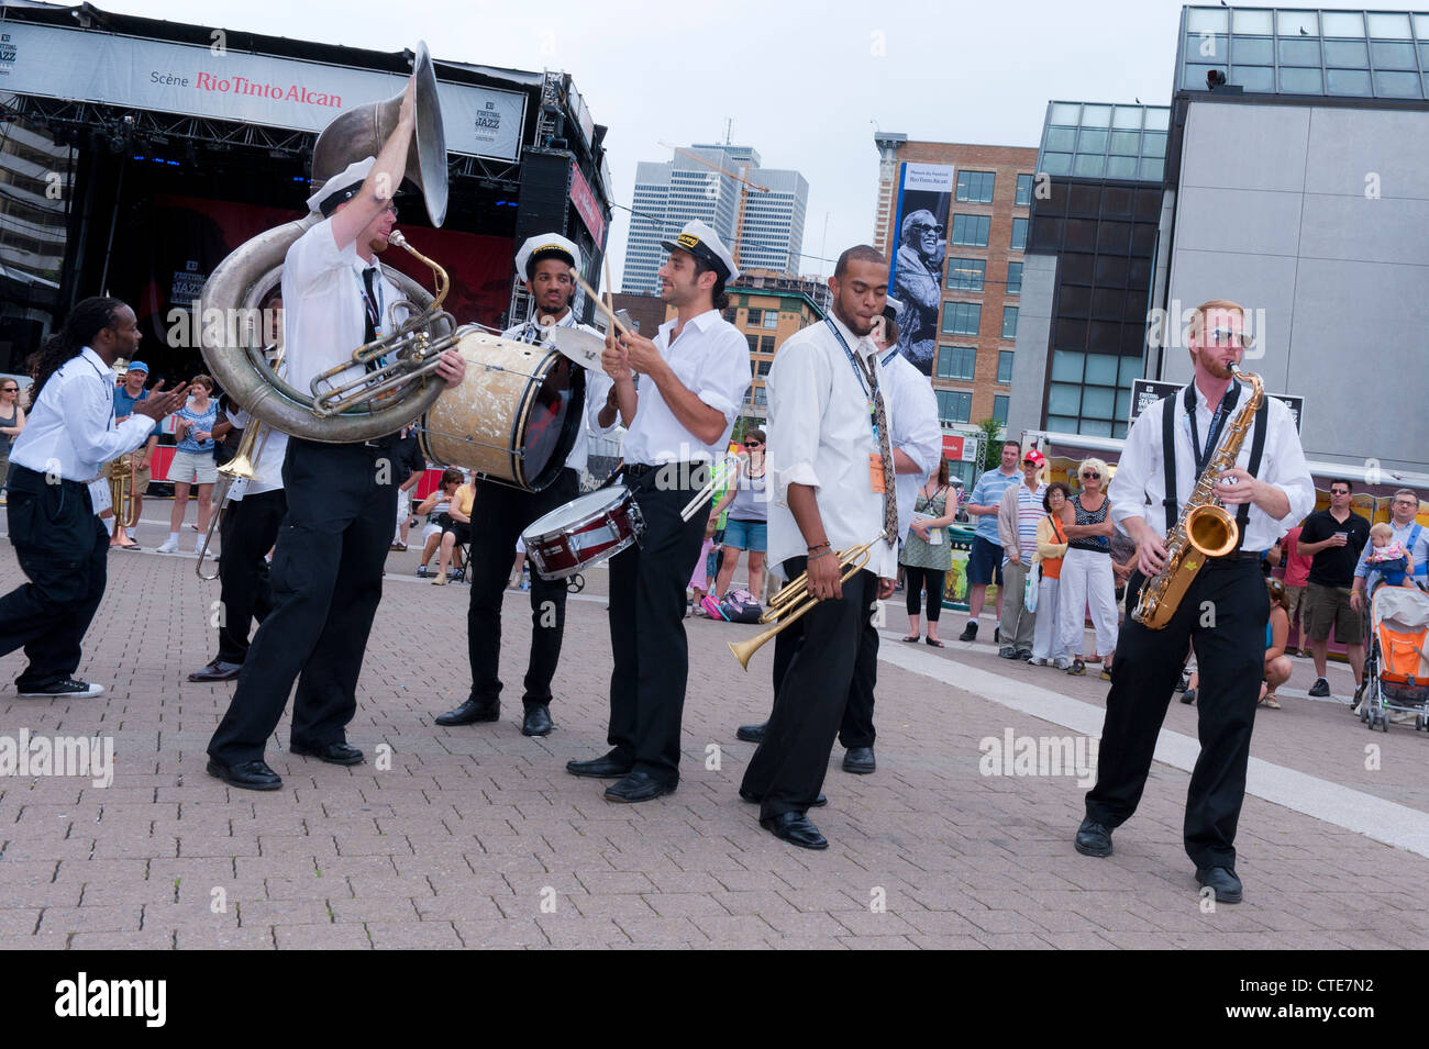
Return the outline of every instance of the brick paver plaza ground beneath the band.
<path id="1" fill-rule="evenodd" d="M 150 525 L 144 538 L 154 535 Z M 606 749 L 604 572 L 590 572 L 569 605 L 557 731 L 527 739 L 526 595 L 506 602 L 503 671 L 516 688 L 502 721 L 437 728 L 433 715 L 469 684 L 467 589 L 419 582 L 414 564 L 414 554 L 390 558 L 363 665 L 349 739 L 367 764 L 289 755 L 284 719 L 267 754 L 284 788 L 253 794 L 204 772 L 233 686 L 184 681 L 213 654 L 217 584 L 200 584 L 191 558 L 113 554 L 80 668 L 107 695 L 19 699 L 9 682 L 23 657 L 0 661 L 0 738 L 100 734 L 116 748 L 107 788 L 0 778 L 0 946 L 1429 945 L 1429 738 L 1398 725 L 1370 734 L 1343 702 L 1298 698 L 1308 661 L 1296 661 L 1285 709 L 1265 712 L 1256 731 L 1265 764 L 1238 838 L 1246 902 L 1206 913 L 1180 843 L 1187 774 L 1175 739 L 1172 764 L 1153 768 L 1105 861 L 1072 849 L 1075 775 L 979 768 L 980 742 L 1007 731 L 1095 734 L 1107 686 L 1093 675 L 997 659 L 987 641 L 900 645 L 906 619 L 892 602 L 879 771 L 846 775 L 835 748 L 830 805 L 813 814 L 832 848 L 812 853 L 763 832 L 736 795 L 753 748 L 733 732 L 769 708 L 770 651 L 746 675 L 725 642 L 755 628 L 686 621 L 680 788 L 612 805 L 603 782 L 563 771 Z M 0 544 L 0 588 L 17 579 Z M 946 637 L 960 628 L 962 617 L 945 614 Z M 1332 671 L 1338 694 L 1348 681 Z M 1166 726 L 1192 742 L 1193 708 L 1172 704 Z M 1348 829 L 1356 819 L 1375 836 Z"/>

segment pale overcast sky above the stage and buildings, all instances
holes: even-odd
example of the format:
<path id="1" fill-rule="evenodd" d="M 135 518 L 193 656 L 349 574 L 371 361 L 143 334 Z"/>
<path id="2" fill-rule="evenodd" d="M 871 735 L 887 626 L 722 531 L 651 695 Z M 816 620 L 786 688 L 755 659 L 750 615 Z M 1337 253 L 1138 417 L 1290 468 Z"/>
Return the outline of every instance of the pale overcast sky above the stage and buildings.
<path id="1" fill-rule="evenodd" d="M 875 124 L 915 140 L 1036 147 L 1052 98 L 1166 104 L 1180 3 L 472 3 L 99 0 L 103 10 L 570 73 L 599 124 L 616 206 L 660 146 L 733 141 L 809 180 L 803 271 L 872 238 Z M 616 287 L 629 213 L 616 207 Z M 827 233 L 826 230 L 827 221 Z"/>

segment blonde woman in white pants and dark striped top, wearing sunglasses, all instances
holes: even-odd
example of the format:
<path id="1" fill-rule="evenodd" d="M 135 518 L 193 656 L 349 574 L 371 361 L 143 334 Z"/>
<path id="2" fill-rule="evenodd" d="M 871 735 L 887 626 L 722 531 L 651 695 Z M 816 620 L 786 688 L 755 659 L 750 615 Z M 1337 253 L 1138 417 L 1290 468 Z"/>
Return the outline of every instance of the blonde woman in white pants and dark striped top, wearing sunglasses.
<path id="1" fill-rule="evenodd" d="M 1107 470 L 1097 458 L 1083 460 L 1077 467 L 1082 494 L 1062 508 L 1062 525 L 1067 537 L 1067 552 L 1062 559 L 1057 595 L 1059 647 L 1076 652 L 1086 638 L 1086 609 L 1092 609 L 1096 649 L 1086 662 L 1097 661 L 1096 651 L 1106 654 L 1112 667 L 1116 648 L 1116 578 L 1112 572 L 1112 502 L 1106 498 Z M 1086 674 L 1086 662 L 1077 655 L 1067 674 Z"/>

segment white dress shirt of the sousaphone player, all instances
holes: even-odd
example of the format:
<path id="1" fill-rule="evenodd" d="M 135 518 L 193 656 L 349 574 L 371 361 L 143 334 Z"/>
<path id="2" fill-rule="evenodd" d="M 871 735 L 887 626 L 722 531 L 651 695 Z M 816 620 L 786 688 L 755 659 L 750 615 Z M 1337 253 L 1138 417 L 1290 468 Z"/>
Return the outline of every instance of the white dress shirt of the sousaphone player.
<path id="1" fill-rule="evenodd" d="M 373 260 L 376 264 L 376 260 Z M 363 344 L 366 333 L 366 300 L 363 270 L 367 263 L 357 254 L 356 241 L 344 248 L 333 238 L 333 220 L 324 218 L 287 250 L 283 261 L 283 345 L 287 347 L 286 378 L 304 397 L 312 394 L 316 375 L 336 364 L 352 361 L 353 350 Z M 382 307 L 382 330 L 392 334 L 406 311 L 393 304 L 402 300 L 397 287 L 377 267 L 373 285 Z M 360 367 L 352 367 L 330 380 L 333 388 L 362 377 Z"/>

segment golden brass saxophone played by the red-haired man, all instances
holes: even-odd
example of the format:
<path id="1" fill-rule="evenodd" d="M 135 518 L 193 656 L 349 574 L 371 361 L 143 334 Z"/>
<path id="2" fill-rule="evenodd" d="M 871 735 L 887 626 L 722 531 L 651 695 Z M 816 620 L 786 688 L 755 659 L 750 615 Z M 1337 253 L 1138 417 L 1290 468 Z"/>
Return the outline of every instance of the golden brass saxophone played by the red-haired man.
<path id="1" fill-rule="evenodd" d="M 1180 599 L 1205 567 L 1206 558 L 1225 557 L 1240 539 L 1240 528 L 1216 497 L 1216 485 L 1220 484 L 1220 474 L 1236 464 L 1240 445 L 1265 400 L 1265 385 L 1259 375 L 1240 371 L 1235 364 L 1230 365 L 1230 374 L 1250 384 L 1250 397 L 1236 411 L 1220 451 L 1200 471 L 1176 527 L 1166 535 L 1166 567 L 1142 587 L 1132 618 L 1147 629 L 1163 629 L 1176 615 Z M 1162 452 L 1173 455 L 1175 450 L 1165 448 Z"/>

